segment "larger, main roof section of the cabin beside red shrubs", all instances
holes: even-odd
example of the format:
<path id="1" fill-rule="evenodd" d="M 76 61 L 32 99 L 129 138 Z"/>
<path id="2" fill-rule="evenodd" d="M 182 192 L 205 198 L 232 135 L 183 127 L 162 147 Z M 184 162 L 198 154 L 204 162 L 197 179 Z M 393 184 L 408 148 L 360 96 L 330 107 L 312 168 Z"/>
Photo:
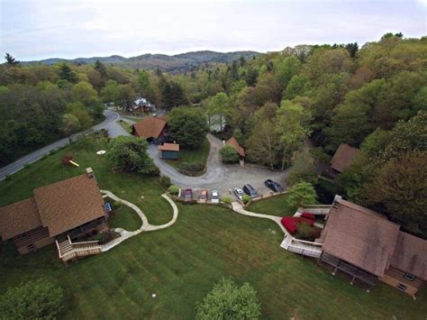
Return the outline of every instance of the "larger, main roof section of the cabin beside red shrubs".
<path id="1" fill-rule="evenodd" d="M 323 251 L 383 277 L 399 228 L 375 211 L 338 199 L 323 230 Z"/>

